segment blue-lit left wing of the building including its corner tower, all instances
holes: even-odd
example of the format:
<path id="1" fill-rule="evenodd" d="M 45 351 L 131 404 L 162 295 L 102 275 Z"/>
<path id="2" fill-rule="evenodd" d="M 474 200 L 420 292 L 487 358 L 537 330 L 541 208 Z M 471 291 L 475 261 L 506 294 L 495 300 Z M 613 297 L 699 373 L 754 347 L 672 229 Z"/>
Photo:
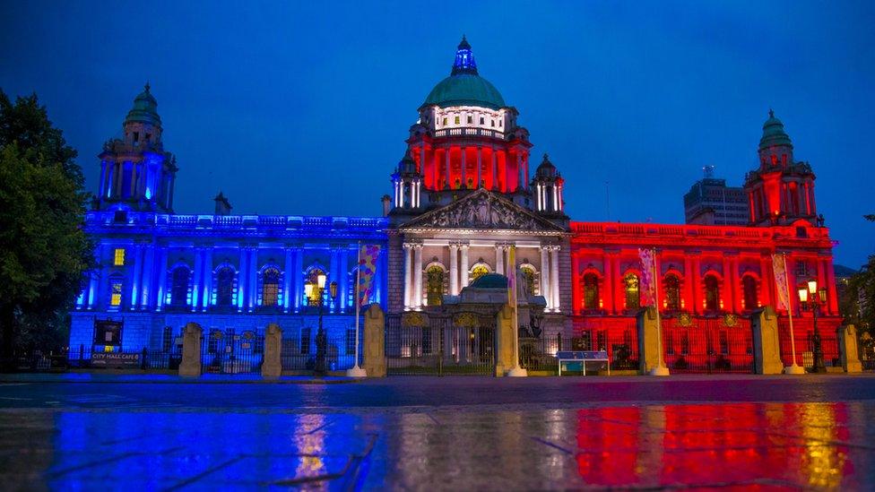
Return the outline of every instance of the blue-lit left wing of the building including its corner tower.
<path id="1" fill-rule="evenodd" d="M 163 149 L 156 109 L 146 86 L 124 135 L 100 153 L 99 194 L 85 215 L 98 268 L 76 302 L 70 357 L 169 350 L 190 322 L 205 334 L 263 332 L 275 323 L 284 337 L 312 344 L 319 298 L 305 286 L 320 274 L 326 286 L 337 284 L 335 298 L 323 292 L 325 331 L 330 339 L 348 336 L 355 324 L 358 247 L 385 250 L 387 220 L 232 215 L 221 194 L 212 214 L 173 213 L 178 168 Z M 385 255 L 377 269 L 369 301 L 385 304 Z M 103 321 L 121 323 L 111 345 L 98 340 Z"/>

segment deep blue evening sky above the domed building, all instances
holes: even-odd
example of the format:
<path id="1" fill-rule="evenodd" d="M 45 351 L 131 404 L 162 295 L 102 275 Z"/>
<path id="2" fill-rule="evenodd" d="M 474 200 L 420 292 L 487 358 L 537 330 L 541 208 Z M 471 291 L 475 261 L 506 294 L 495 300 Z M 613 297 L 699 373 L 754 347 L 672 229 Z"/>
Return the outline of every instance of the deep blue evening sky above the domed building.
<path id="1" fill-rule="evenodd" d="M 468 35 L 576 220 L 682 222 L 706 164 L 741 184 L 768 108 L 818 175 L 836 262 L 873 253 L 871 2 L 4 2 L 0 87 L 94 157 L 143 82 L 179 212 L 377 215 L 407 128 Z M 605 185 L 610 182 L 611 214 Z"/>

